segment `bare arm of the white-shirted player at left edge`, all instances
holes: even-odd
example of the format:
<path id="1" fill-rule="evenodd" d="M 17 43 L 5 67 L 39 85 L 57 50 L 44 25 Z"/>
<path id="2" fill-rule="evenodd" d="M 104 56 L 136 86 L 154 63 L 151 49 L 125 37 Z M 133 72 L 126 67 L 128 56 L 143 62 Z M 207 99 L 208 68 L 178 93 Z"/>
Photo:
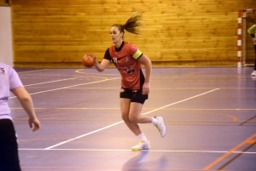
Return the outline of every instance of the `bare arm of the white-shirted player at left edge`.
<path id="1" fill-rule="evenodd" d="M 24 87 L 13 88 L 11 89 L 11 92 L 17 96 L 17 99 L 20 101 L 20 105 L 22 105 L 23 109 L 26 111 L 30 128 L 32 128 L 33 124 L 32 131 L 34 132 L 38 130 L 40 128 L 40 123 L 36 117 L 30 94 L 28 94 Z"/>

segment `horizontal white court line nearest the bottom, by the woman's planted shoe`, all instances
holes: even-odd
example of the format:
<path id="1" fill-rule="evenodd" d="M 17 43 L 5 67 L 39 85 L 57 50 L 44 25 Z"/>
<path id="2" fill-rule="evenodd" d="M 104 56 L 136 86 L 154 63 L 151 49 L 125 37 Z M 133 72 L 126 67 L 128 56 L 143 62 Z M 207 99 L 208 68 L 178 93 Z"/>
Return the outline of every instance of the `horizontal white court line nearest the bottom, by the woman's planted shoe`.
<path id="1" fill-rule="evenodd" d="M 121 150 L 121 149 L 29 149 L 29 148 L 19 148 L 20 151 L 131 151 L 131 150 Z M 230 151 L 165 151 L 165 150 L 143 150 L 150 152 L 201 152 L 201 153 L 227 153 Z M 236 154 L 256 154 L 256 152 L 246 152 L 246 151 L 232 151 Z"/>

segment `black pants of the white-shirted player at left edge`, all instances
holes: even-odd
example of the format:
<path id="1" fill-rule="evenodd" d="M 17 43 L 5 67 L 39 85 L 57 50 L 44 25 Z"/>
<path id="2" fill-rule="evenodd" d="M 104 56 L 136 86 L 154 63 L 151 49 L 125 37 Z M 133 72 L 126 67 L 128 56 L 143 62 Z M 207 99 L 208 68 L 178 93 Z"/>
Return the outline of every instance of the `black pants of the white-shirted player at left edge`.
<path id="1" fill-rule="evenodd" d="M 0 171 L 20 170 L 14 124 L 9 119 L 0 119 Z"/>

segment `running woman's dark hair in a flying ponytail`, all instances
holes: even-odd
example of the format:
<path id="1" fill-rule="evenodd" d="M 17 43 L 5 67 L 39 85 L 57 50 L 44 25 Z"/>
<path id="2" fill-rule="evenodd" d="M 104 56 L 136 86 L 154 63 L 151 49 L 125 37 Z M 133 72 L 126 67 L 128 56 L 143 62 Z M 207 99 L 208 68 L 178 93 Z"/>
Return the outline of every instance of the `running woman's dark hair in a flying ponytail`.
<path id="1" fill-rule="evenodd" d="M 125 31 L 128 31 L 139 36 L 141 35 L 139 30 L 143 26 L 143 22 L 141 21 L 142 19 L 142 14 L 135 12 L 131 14 L 129 19 L 125 22 L 125 25 L 113 24 L 113 26 L 116 26 L 120 32 L 125 33 Z"/>

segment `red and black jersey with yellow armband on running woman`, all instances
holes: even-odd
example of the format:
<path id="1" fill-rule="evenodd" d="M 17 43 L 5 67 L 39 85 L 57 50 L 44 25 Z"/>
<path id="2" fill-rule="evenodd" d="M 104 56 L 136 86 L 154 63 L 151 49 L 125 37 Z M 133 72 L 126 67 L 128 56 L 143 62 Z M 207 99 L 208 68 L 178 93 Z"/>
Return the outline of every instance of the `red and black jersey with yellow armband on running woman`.
<path id="1" fill-rule="evenodd" d="M 122 88 L 141 89 L 145 81 L 138 59 L 143 53 L 132 43 L 123 42 L 120 48 L 113 44 L 106 50 L 104 59 L 112 60 L 121 74 Z"/>

